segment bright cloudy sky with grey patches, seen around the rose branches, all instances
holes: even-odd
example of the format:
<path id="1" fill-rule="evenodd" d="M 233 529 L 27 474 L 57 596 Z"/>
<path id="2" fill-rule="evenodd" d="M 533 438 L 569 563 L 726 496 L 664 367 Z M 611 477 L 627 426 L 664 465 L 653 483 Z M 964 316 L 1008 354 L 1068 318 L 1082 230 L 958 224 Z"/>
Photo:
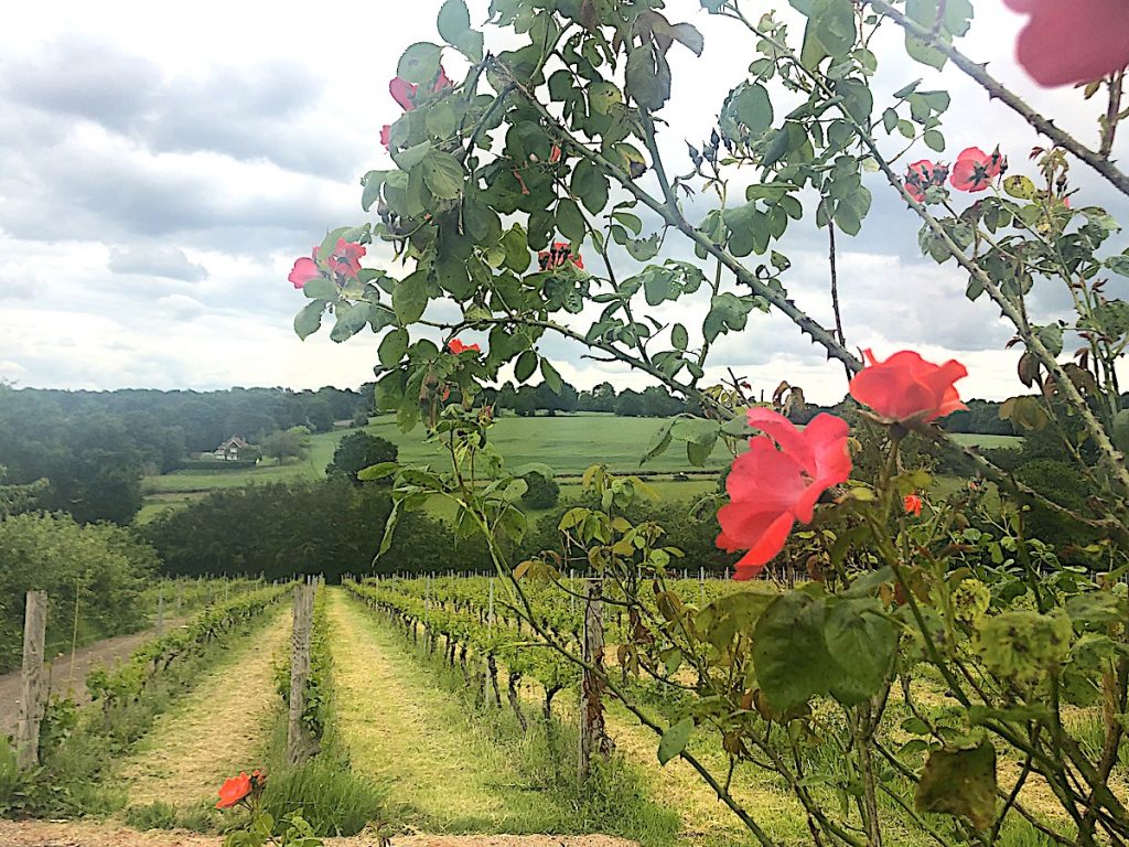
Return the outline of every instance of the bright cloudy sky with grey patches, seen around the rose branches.
<path id="1" fill-rule="evenodd" d="M 973 2 L 977 20 L 961 47 L 1093 143 L 1097 104 L 1076 90 L 1039 88 L 1012 59 L 1023 19 L 999 0 Z M 327 229 L 370 219 L 360 209 L 359 178 L 392 166 L 378 142 L 380 125 L 399 114 L 387 81 L 404 47 L 439 41 L 440 5 L 325 0 L 265 11 L 263 3 L 210 0 L 56 0 L 50 16 L 34 3 L 3 5 L 0 379 L 95 390 L 356 387 L 370 379 L 378 338 L 334 344 L 321 332 L 299 341 L 291 321 L 305 300 L 286 278 Z M 790 14 L 784 0 L 777 5 Z M 488 2 L 470 6 L 481 24 Z M 727 89 L 755 54 L 742 32 L 698 0 L 668 0 L 667 14 L 706 37 L 700 59 L 672 52 L 674 94 L 662 113 L 663 150 L 671 169 L 684 173 L 685 141 L 708 137 Z M 488 47 L 504 38 L 488 27 Z M 881 63 L 876 113 L 889 93 L 924 77 L 922 88 L 953 95 L 948 147 L 936 158 L 999 143 L 1013 173 L 1031 173 L 1035 134 L 971 80 L 913 64 L 894 33 L 873 49 Z M 452 76 L 465 67 L 457 56 L 445 61 Z M 934 157 L 924 146 L 916 152 L 905 160 Z M 1118 152 L 1129 154 L 1129 133 Z M 1129 217 L 1084 166 L 1071 176 L 1087 204 Z M 1007 326 L 986 303 L 964 298 L 966 278 L 955 265 L 920 256 L 917 218 L 890 187 L 877 177 L 868 186 L 875 201 L 863 233 L 839 238 L 849 346 L 873 347 L 879 357 L 912 348 L 935 360 L 957 358 L 970 370 L 965 396 L 1021 393 L 1018 352 L 1004 349 Z M 1121 250 L 1124 238 L 1118 242 Z M 666 255 L 692 256 L 676 236 L 668 245 Z M 794 263 L 782 280 L 789 295 L 830 322 L 825 230 L 805 222 L 779 248 Z M 387 267 L 390 259 L 382 245 L 365 263 Z M 1065 306 L 1061 292 L 1036 288 L 1033 309 L 1042 317 Z M 677 309 L 692 324 L 706 306 Z M 542 351 L 579 387 L 647 382 L 581 358 L 566 342 L 546 339 Z M 842 368 L 778 315 L 752 315 L 746 332 L 717 346 L 714 364 L 711 377 L 732 367 L 769 392 L 787 379 L 817 402 L 846 390 Z"/>

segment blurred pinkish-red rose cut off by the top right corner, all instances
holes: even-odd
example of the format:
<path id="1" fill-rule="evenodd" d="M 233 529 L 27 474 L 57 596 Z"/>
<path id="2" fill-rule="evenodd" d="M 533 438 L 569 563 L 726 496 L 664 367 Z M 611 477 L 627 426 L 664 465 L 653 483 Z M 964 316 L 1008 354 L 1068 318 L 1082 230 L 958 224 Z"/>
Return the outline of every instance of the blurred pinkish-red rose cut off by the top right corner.
<path id="1" fill-rule="evenodd" d="M 1041 86 L 1091 82 L 1129 66 L 1126 0 L 1004 0 L 1031 16 L 1015 55 Z"/>

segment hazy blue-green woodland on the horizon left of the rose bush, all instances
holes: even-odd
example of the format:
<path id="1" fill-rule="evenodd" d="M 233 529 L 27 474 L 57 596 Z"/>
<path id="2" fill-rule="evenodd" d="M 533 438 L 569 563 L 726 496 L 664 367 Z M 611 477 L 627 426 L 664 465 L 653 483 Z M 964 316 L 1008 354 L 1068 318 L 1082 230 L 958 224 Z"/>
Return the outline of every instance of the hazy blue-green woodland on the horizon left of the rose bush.
<path id="1" fill-rule="evenodd" d="M 40 508 L 68 512 L 81 523 L 125 524 L 141 506 L 143 473 L 176 470 L 233 435 L 255 440 L 296 426 L 329 431 L 336 420 L 364 424 L 371 399 L 371 385 L 89 392 L 0 384 L 2 481 L 45 479 Z"/>

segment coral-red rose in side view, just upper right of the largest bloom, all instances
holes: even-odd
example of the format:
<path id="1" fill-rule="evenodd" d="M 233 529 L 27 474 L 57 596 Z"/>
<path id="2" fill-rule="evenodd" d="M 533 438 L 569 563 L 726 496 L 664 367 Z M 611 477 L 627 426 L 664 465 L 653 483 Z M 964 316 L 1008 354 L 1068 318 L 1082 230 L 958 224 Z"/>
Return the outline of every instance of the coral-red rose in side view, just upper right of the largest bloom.
<path id="1" fill-rule="evenodd" d="M 969 375 L 959 361 L 926 361 L 912 350 L 902 350 L 885 361 L 864 350 L 868 366 L 850 381 L 850 395 L 887 422 L 930 421 L 968 407 L 961 402 L 957 379 Z"/>

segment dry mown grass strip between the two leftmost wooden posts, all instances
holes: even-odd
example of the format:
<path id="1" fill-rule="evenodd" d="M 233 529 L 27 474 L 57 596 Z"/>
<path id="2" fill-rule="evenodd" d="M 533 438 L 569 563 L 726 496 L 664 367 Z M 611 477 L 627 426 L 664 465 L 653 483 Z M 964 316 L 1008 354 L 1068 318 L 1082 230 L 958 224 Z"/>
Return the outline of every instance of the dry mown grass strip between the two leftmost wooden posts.
<path id="1" fill-rule="evenodd" d="M 132 805 L 161 801 L 183 809 L 215 794 L 225 776 L 256 766 L 278 706 L 272 661 L 289 636 L 289 611 L 273 612 L 157 718 L 120 769 Z"/>

